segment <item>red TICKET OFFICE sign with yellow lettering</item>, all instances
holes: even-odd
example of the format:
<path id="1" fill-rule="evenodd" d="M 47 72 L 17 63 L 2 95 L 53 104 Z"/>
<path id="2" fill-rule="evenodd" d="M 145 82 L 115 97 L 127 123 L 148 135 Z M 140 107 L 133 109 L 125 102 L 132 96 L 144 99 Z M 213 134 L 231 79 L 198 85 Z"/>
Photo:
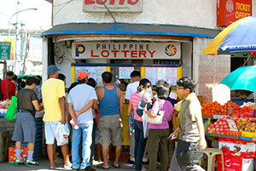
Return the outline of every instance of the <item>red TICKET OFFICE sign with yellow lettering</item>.
<path id="1" fill-rule="evenodd" d="M 218 0 L 218 26 L 230 26 L 236 20 L 252 15 L 252 0 Z"/>

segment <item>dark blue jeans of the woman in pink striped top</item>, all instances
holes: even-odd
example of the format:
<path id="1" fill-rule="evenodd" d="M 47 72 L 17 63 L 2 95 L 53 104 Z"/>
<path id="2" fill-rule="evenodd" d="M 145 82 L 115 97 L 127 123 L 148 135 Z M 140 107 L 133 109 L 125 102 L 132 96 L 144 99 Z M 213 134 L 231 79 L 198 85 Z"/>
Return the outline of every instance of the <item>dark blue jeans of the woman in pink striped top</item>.
<path id="1" fill-rule="evenodd" d="M 144 139 L 143 137 L 143 122 L 140 122 L 134 119 L 134 128 L 135 128 L 135 149 L 134 149 L 135 169 L 138 171 L 138 170 L 142 170 L 143 153 L 145 150 L 147 139 Z"/>

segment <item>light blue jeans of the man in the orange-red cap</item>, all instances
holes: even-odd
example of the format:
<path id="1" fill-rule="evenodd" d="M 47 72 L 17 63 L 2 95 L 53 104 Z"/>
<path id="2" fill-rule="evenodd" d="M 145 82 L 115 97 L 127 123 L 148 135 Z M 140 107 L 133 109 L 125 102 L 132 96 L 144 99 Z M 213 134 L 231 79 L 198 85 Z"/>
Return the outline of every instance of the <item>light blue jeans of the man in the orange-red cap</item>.
<path id="1" fill-rule="evenodd" d="M 90 166 L 90 145 L 92 142 L 92 128 L 93 123 L 82 123 L 79 124 L 79 129 L 73 128 L 73 135 L 72 135 L 72 168 L 84 169 Z M 79 146 L 81 141 L 81 136 L 83 134 L 83 141 L 82 141 L 82 158 L 83 162 L 80 166 L 80 156 L 79 156 Z"/>

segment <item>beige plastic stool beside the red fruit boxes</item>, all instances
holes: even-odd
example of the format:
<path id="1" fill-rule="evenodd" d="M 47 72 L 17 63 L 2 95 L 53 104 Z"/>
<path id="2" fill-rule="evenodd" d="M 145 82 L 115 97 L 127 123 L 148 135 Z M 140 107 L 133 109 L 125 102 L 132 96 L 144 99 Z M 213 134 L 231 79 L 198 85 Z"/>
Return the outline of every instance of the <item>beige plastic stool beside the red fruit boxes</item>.
<path id="1" fill-rule="evenodd" d="M 207 155 L 207 171 L 215 170 L 215 156 L 220 155 L 222 160 L 222 170 L 224 171 L 224 155 L 223 151 L 216 148 L 207 148 L 203 151 Z"/>

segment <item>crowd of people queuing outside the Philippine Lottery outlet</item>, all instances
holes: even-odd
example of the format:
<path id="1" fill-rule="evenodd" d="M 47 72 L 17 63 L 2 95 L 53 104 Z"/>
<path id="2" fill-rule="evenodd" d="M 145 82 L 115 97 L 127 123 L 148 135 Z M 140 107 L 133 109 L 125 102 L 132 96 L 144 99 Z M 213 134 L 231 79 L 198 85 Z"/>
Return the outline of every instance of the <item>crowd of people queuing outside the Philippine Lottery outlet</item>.
<path id="1" fill-rule="evenodd" d="M 55 169 L 55 144 L 61 146 L 64 168 L 93 171 L 93 157 L 101 160 L 97 168 L 110 168 L 108 162 L 110 146 L 115 146 L 115 158 L 112 168 L 120 168 L 119 157 L 122 152 L 124 101 L 122 90 L 113 84 L 111 72 L 102 73 L 103 87 L 96 88 L 96 81 L 89 78 L 85 71 L 77 73 L 78 82 L 65 88 L 66 77 L 59 73 L 56 66 L 48 67 L 49 79 L 42 86 L 42 79 L 27 77 L 26 85 L 20 88 L 18 112 L 16 114 L 15 141 L 16 164 L 20 164 L 21 142 L 28 142 L 26 164 L 38 164 L 32 160 L 35 142 L 36 111 L 44 108 L 44 133 L 49 169 Z M 8 88 L 13 89 L 13 72 L 7 73 Z M 3 82 L 6 80 L 3 80 Z M 2 84 L 3 85 L 3 84 Z M 6 91 L 1 85 L 2 91 Z M 15 88 L 16 89 L 16 88 Z M 9 99 L 13 92 L 8 89 Z M 67 93 L 67 96 L 66 96 Z M 177 81 L 177 94 L 171 93 L 168 83 L 160 80 L 153 97 L 151 83 L 141 78 L 139 71 L 131 72 L 131 83 L 125 85 L 125 103 L 128 105 L 128 123 L 130 138 L 130 162 L 135 170 L 145 170 L 143 162 L 149 162 L 149 171 L 157 170 L 204 170 L 201 163 L 202 150 L 207 147 L 201 117 L 201 104 L 195 95 L 195 82 L 190 77 Z M 3 99 L 7 95 L 3 94 Z M 67 101 L 67 108 L 65 102 Z M 67 115 L 68 113 L 68 115 Z M 147 118 L 160 118 L 160 123 L 147 123 Z M 179 118 L 177 127 L 176 117 Z M 61 143 L 55 134 L 59 123 L 73 121 L 70 161 L 68 145 Z M 178 135 L 178 137 L 177 137 Z M 177 145 L 175 145 L 175 140 Z M 81 145 L 80 145 L 81 142 Z M 99 146 L 98 146 L 99 145 Z M 80 149 L 80 146 L 82 149 Z M 98 148 L 99 147 L 99 148 Z M 94 152 L 96 149 L 96 153 Z M 81 162 L 80 162 L 81 155 Z"/>

